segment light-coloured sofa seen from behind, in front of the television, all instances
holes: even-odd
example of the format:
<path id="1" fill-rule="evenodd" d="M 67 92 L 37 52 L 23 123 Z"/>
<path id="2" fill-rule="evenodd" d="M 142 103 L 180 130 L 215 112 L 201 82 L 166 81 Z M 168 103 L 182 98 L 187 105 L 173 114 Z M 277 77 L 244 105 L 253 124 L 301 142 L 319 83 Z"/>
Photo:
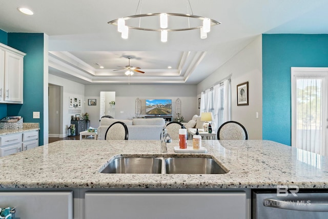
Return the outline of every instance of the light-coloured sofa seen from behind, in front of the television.
<path id="1" fill-rule="evenodd" d="M 129 140 L 160 140 L 165 125 L 163 118 L 134 118 L 133 120 L 116 120 L 114 118 L 101 118 L 97 129 L 97 140 L 105 140 L 108 127 L 114 122 L 123 122 L 128 127 Z"/>

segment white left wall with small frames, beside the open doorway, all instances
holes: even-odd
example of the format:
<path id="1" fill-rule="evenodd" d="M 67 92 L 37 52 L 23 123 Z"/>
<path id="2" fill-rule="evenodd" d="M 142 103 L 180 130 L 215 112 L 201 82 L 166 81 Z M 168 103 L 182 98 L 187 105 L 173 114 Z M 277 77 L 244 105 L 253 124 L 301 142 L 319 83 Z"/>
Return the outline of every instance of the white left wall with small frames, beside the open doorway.
<path id="1" fill-rule="evenodd" d="M 68 127 L 71 125 L 71 116 L 75 114 L 80 114 L 81 116 L 85 113 L 85 105 L 88 105 L 87 102 L 84 103 L 85 99 L 85 85 L 79 84 L 76 82 L 72 82 L 68 79 L 64 79 L 61 77 L 54 76 L 52 74 L 49 74 L 49 84 L 57 85 L 63 87 L 62 91 L 62 103 L 61 108 L 63 109 L 62 118 L 61 121 L 58 121 L 58 123 L 62 122 L 61 124 L 61 130 L 63 130 L 63 136 L 60 137 L 66 137 L 68 135 Z M 80 110 L 81 113 L 69 113 L 69 110 L 72 110 L 74 108 L 69 108 L 69 97 L 78 97 L 82 99 L 81 108 L 76 108 L 76 110 Z M 52 124 L 49 124 L 49 126 L 52 126 Z"/>

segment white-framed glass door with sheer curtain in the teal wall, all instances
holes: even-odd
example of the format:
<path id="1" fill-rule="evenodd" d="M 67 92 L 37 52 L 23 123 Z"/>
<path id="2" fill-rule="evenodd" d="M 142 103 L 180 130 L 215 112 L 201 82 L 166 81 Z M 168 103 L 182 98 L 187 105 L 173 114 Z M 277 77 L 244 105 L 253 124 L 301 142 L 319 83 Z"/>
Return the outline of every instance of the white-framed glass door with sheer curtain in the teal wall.
<path id="1" fill-rule="evenodd" d="M 293 147 L 327 155 L 327 82 L 327 68 L 292 68 Z"/>

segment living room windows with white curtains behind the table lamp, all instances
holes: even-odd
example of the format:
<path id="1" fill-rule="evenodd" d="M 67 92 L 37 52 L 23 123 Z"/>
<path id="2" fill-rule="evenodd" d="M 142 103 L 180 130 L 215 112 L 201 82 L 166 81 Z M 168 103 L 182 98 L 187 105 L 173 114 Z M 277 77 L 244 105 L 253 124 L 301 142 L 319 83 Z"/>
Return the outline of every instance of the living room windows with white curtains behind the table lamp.
<path id="1" fill-rule="evenodd" d="M 213 122 L 216 124 L 215 129 L 218 129 L 220 125 L 230 120 L 230 93 L 230 79 L 226 79 L 222 83 L 201 92 L 200 113 L 212 113 Z"/>

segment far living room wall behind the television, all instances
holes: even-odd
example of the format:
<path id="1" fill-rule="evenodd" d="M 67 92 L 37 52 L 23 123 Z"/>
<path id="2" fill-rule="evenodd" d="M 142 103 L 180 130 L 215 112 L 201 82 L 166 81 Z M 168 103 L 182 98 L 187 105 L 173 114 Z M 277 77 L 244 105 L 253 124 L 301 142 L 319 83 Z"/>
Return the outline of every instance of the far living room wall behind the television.
<path id="1" fill-rule="evenodd" d="M 197 114 L 196 85 L 86 85 L 85 102 L 99 101 L 100 91 L 115 91 L 115 118 L 132 119 L 135 116 L 135 99 L 141 99 L 141 116 L 145 115 L 146 99 L 172 99 L 172 116 L 175 117 L 175 101 L 181 99 L 181 114 L 187 122 Z M 85 105 L 92 127 L 99 126 L 99 104 Z M 122 111 L 122 113 L 121 113 Z"/>

